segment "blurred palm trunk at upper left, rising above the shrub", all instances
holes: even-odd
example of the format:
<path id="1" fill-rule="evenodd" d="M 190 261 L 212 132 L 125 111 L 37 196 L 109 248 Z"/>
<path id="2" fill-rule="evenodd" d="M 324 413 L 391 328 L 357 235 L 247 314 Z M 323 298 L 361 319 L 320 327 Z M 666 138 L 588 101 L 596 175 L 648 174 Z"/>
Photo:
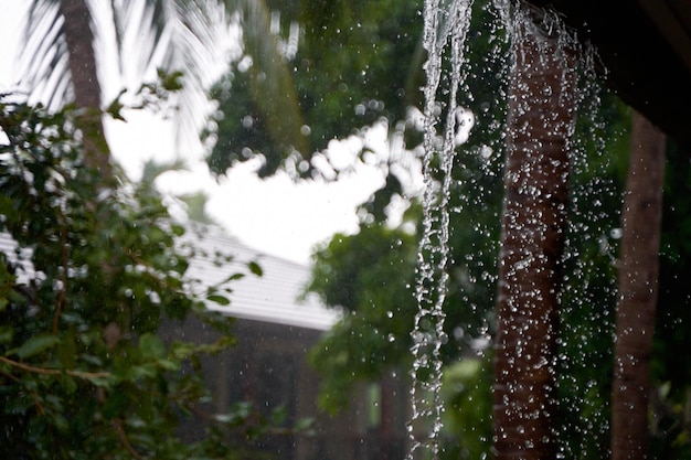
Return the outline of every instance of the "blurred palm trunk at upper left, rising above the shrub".
<path id="1" fill-rule="evenodd" d="M 70 73 L 77 108 L 83 109 L 78 128 L 83 133 L 84 161 L 96 169 L 104 182 L 113 178 L 110 152 L 100 114 L 100 84 L 94 52 L 92 15 L 86 0 L 60 0 L 63 32 L 70 54 Z"/>

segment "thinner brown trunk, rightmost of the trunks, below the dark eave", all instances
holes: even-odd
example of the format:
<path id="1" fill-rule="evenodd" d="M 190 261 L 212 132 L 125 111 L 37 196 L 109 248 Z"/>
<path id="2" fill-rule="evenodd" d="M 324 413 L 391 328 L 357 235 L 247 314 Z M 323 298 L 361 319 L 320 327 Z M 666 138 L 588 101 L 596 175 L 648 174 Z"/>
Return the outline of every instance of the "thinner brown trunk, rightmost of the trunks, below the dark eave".
<path id="1" fill-rule="evenodd" d="M 612 406 L 612 459 L 645 459 L 650 353 L 659 270 L 665 136 L 634 114 L 621 213 L 619 303 Z"/>

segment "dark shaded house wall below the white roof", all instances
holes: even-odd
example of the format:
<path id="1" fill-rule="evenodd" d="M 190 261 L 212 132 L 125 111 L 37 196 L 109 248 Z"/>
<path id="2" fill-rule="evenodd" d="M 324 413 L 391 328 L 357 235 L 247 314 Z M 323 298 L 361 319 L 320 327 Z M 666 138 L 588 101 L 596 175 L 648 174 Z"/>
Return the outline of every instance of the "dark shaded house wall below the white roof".
<path id="1" fill-rule="evenodd" d="M 269 322 L 237 320 L 237 345 L 203 362 L 204 378 L 214 395 L 204 409 L 228 411 L 231 404 L 252 402 L 263 415 L 285 408 L 285 421 L 259 440 L 238 443 L 280 460 L 400 460 L 405 457 L 405 421 L 408 393 L 401 375 L 361 385 L 351 407 L 330 417 L 317 408 L 319 376 L 309 366 L 307 353 L 323 333 L 319 330 Z M 173 325 L 171 336 L 211 341 L 215 336 L 198 321 Z M 287 429 L 302 418 L 315 418 L 313 432 L 293 435 Z M 204 426 L 184 424 L 184 436 L 199 439 Z"/>

